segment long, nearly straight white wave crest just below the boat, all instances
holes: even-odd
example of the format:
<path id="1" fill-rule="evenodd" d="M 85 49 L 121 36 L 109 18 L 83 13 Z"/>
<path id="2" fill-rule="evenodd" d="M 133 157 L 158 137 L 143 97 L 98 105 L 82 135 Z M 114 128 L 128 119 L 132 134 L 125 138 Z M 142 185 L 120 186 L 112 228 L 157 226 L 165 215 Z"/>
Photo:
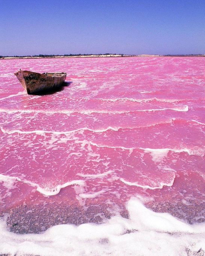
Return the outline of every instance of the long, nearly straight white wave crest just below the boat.
<path id="1" fill-rule="evenodd" d="M 92 113 L 103 113 L 103 114 L 124 114 L 124 113 L 135 113 L 135 112 L 155 112 L 155 111 L 163 111 L 163 110 L 174 110 L 179 112 L 187 112 L 188 106 L 181 106 L 176 108 L 161 108 L 161 109 L 139 109 L 139 110 L 96 110 L 96 109 L 88 109 L 88 110 L 40 110 L 40 109 L 15 109 L 15 110 L 9 110 L 9 109 L 0 109 L 0 112 L 6 112 L 6 113 L 44 113 L 44 114 L 72 114 L 72 113 L 80 113 L 84 115 L 90 115 Z"/>

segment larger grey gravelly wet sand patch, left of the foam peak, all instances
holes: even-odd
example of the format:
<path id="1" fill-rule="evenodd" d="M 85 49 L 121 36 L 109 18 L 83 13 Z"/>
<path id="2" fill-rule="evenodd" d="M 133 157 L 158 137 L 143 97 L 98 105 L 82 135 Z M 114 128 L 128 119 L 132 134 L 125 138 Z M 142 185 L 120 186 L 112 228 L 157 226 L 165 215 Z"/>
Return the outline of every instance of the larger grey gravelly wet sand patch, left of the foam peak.
<path id="1" fill-rule="evenodd" d="M 20 205 L 8 212 L 7 225 L 14 233 L 40 233 L 59 224 L 101 224 L 113 215 L 106 204 L 90 205 L 86 210 L 80 205 Z M 129 218 L 125 207 L 122 207 L 120 215 Z"/>

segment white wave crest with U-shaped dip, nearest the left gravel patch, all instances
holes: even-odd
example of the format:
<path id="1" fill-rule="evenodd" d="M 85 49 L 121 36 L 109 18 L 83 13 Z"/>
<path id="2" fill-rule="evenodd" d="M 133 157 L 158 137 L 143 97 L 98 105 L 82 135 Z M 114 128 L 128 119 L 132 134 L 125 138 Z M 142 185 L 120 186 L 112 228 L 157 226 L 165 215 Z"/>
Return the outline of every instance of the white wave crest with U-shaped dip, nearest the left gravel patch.
<path id="1" fill-rule="evenodd" d="M 61 189 L 65 188 L 65 187 L 68 187 L 68 186 L 71 186 L 71 185 L 80 185 L 80 186 L 84 186 L 85 185 L 85 182 L 82 181 L 82 180 L 73 180 L 73 181 L 68 181 L 68 182 L 65 182 L 64 184 L 61 184 L 61 185 L 57 185 L 55 187 L 44 187 L 42 188 L 39 184 L 36 184 L 32 181 L 28 181 L 26 179 L 21 179 L 19 177 L 12 177 L 12 176 L 7 176 L 7 175 L 3 175 L 3 174 L 0 174 L 0 181 L 21 181 L 25 184 L 28 184 L 32 187 L 35 187 L 36 190 L 41 193 L 42 195 L 45 195 L 45 196 L 54 196 L 54 195 L 57 195 Z"/>

